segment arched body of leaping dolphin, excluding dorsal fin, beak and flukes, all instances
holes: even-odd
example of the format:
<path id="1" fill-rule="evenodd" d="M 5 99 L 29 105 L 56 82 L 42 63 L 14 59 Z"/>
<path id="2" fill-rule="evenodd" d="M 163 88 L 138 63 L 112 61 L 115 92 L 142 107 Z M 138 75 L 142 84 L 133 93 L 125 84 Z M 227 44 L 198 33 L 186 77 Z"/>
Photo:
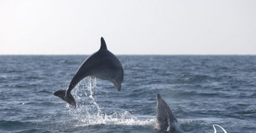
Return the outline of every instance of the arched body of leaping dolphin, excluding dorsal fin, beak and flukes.
<path id="1" fill-rule="evenodd" d="M 97 77 L 102 80 L 115 79 L 117 75 L 123 77 L 123 67 L 118 58 L 107 49 L 100 49 L 84 60 L 77 69 L 75 76 L 69 84 L 73 89 L 81 80 L 87 76 Z"/>

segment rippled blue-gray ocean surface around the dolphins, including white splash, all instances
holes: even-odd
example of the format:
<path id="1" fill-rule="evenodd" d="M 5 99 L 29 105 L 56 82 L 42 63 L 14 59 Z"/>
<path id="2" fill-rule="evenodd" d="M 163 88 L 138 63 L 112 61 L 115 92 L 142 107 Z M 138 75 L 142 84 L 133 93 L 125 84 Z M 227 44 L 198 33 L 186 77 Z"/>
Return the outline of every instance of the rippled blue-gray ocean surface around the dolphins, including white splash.
<path id="1" fill-rule="evenodd" d="M 256 132 L 256 56 L 117 56 L 121 91 L 88 77 L 73 109 L 53 92 L 86 57 L 0 56 L 0 132 L 160 132 L 157 93 L 184 132 Z"/>

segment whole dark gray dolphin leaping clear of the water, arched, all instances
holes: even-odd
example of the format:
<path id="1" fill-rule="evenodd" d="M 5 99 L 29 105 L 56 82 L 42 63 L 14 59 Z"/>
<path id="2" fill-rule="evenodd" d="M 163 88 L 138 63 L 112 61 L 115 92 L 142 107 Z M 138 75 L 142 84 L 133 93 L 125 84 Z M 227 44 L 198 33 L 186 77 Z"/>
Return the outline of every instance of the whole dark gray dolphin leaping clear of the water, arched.
<path id="1" fill-rule="evenodd" d="M 53 95 L 60 97 L 76 108 L 76 101 L 71 91 L 85 77 L 92 76 L 102 80 L 108 80 L 115 85 L 118 91 L 121 90 L 123 81 L 123 67 L 118 58 L 107 50 L 103 37 L 100 39 L 100 49 L 84 60 L 76 71 L 66 90 L 56 91 Z"/>

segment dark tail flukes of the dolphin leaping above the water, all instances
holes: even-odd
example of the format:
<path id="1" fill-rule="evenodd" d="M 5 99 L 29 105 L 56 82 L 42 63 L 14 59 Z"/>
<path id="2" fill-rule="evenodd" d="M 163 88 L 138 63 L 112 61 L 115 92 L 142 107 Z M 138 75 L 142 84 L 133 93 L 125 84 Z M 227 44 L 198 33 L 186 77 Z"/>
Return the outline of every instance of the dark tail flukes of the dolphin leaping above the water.
<path id="1" fill-rule="evenodd" d="M 70 92 L 66 93 L 66 90 L 59 90 L 54 92 L 53 95 L 60 97 L 61 99 L 63 99 L 64 101 L 67 101 L 67 103 L 71 104 L 73 107 L 76 108 L 76 101 Z"/>

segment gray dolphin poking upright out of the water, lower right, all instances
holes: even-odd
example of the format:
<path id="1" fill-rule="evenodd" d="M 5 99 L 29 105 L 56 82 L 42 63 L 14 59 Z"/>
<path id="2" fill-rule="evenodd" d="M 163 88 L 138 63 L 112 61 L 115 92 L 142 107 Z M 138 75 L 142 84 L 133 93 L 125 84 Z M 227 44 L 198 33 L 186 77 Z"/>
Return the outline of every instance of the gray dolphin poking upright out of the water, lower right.
<path id="1" fill-rule="evenodd" d="M 157 109 L 156 109 L 156 130 L 177 132 L 177 119 L 172 113 L 170 107 L 165 103 L 159 93 L 157 93 Z"/>

